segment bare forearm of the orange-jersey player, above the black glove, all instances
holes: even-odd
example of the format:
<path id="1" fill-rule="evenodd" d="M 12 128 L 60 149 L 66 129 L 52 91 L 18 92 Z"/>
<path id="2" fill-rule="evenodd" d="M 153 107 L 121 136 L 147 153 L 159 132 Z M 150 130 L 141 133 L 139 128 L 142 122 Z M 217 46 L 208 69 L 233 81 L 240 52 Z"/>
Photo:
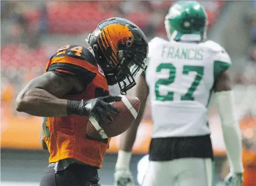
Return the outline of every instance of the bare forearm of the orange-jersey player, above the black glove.
<path id="1" fill-rule="evenodd" d="M 42 117 L 66 116 L 66 105 L 67 100 L 59 99 L 40 88 L 21 92 L 16 99 L 18 112 Z"/>

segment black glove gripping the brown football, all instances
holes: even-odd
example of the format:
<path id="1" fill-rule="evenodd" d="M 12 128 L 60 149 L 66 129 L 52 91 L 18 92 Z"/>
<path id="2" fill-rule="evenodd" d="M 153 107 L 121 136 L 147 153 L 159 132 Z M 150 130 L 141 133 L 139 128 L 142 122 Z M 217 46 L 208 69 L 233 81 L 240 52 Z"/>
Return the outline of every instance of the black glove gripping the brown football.
<path id="1" fill-rule="evenodd" d="M 68 100 L 66 106 L 66 112 L 68 115 L 93 115 L 99 123 L 103 121 L 112 122 L 113 119 L 110 113 L 118 114 L 117 108 L 114 108 L 110 102 L 119 101 L 122 97 L 109 95 L 106 97 L 99 97 L 95 99 L 90 99 L 87 101 L 71 101 Z"/>

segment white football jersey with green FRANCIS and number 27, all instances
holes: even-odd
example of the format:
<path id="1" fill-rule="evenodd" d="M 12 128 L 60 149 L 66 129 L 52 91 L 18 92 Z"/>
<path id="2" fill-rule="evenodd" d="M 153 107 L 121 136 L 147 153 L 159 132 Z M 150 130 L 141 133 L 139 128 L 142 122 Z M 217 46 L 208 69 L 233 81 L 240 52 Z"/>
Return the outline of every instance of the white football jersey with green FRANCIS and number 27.
<path id="1" fill-rule="evenodd" d="M 219 44 L 149 42 L 146 82 L 152 106 L 152 137 L 210 134 L 207 106 L 214 80 L 231 65 Z"/>

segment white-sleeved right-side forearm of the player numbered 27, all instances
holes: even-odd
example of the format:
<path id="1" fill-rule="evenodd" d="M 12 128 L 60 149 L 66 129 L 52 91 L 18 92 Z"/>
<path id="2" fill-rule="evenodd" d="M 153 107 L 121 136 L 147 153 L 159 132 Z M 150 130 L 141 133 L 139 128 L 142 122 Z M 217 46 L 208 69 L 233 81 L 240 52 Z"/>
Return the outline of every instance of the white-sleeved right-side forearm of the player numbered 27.
<path id="1" fill-rule="evenodd" d="M 218 92 L 216 99 L 231 171 L 242 173 L 242 139 L 239 123 L 234 114 L 233 91 Z"/>

